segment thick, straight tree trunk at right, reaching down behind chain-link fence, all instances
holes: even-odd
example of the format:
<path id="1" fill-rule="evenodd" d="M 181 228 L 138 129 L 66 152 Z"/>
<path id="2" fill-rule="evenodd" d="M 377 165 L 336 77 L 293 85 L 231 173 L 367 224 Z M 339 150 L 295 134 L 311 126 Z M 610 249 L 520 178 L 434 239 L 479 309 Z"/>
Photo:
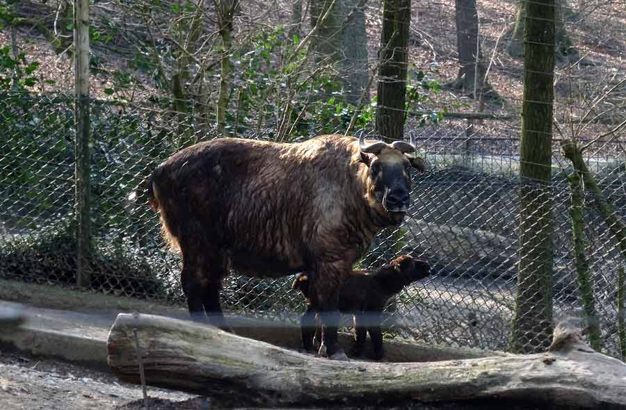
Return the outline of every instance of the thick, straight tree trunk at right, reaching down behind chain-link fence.
<path id="1" fill-rule="evenodd" d="M 554 1 L 527 3 L 520 141 L 520 256 L 511 349 L 537 352 L 552 333 Z"/>

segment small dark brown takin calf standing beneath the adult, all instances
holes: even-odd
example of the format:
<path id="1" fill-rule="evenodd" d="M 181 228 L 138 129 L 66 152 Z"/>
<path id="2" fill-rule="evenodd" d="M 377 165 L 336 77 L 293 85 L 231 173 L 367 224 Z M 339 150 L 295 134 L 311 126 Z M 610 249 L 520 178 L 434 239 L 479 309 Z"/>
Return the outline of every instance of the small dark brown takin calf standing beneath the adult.
<path id="1" fill-rule="evenodd" d="M 368 274 L 362 270 L 353 270 L 350 277 L 344 282 L 339 291 L 339 311 L 352 314 L 355 329 L 354 356 L 362 356 L 365 347 L 366 334 L 369 332 L 371 344 L 374 347 L 374 358 L 380 360 L 385 355 L 383 350 L 383 333 L 380 324 L 383 322 L 383 309 L 387 301 L 404 286 L 414 281 L 424 279 L 430 275 L 428 263 L 411 256 L 399 256 L 375 272 Z M 303 348 L 312 351 L 316 339 L 319 340 L 319 327 L 315 330 L 307 327 L 307 315 L 314 315 L 309 304 L 309 277 L 300 273 L 291 284 L 294 290 L 307 298 L 307 311 L 303 315 L 300 325 Z"/>

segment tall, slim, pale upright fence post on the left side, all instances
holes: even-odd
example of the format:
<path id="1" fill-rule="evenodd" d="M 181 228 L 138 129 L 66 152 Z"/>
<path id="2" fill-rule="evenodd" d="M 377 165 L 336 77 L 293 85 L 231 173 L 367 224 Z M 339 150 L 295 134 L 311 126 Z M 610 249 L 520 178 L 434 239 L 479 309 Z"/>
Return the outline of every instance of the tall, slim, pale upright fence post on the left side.
<path id="1" fill-rule="evenodd" d="M 89 0 L 74 0 L 74 83 L 77 285 L 88 286 L 90 283 Z"/>

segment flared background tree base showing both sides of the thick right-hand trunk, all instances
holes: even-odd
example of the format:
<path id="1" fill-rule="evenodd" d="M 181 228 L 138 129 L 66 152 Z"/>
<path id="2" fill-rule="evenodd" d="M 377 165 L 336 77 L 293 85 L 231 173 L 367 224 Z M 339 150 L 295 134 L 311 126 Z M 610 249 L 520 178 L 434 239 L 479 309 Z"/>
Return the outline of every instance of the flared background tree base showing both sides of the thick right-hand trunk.
<path id="1" fill-rule="evenodd" d="M 517 6 L 515 16 L 515 28 L 511 33 L 511 38 L 506 45 L 506 52 L 511 57 L 524 56 L 524 23 L 526 16 L 527 0 L 521 0 Z M 555 52 L 559 60 L 575 61 L 579 58 L 579 51 L 574 47 L 567 28 L 565 28 L 565 17 L 567 14 L 567 4 L 565 0 L 555 0 L 554 2 L 554 22 L 555 22 Z"/>

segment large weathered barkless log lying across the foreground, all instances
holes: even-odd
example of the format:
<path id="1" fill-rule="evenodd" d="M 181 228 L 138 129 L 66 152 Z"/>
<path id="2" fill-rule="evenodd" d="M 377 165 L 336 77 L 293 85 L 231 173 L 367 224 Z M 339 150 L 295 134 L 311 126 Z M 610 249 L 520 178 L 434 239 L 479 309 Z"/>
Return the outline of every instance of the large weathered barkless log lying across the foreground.
<path id="1" fill-rule="evenodd" d="M 626 364 L 559 325 L 542 354 L 424 363 L 330 361 L 156 315 L 121 313 L 109 366 L 138 384 L 134 329 L 147 384 L 240 405 L 398 404 L 515 400 L 550 408 L 626 409 Z"/>

